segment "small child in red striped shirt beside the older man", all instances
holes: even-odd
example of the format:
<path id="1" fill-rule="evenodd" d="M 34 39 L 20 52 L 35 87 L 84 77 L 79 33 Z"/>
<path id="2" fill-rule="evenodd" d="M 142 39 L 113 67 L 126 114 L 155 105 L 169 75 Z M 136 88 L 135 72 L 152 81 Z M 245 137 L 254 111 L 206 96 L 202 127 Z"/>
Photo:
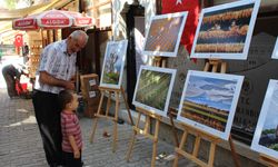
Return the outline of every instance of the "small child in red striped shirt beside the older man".
<path id="1" fill-rule="evenodd" d="M 82 137 L 79 120 L 76 115 L 78 97 L 73 91 L 61 90 L 59 94 L 59 102 L 62 108 L 62 153 L 66 167 L 82 167 Z"/>

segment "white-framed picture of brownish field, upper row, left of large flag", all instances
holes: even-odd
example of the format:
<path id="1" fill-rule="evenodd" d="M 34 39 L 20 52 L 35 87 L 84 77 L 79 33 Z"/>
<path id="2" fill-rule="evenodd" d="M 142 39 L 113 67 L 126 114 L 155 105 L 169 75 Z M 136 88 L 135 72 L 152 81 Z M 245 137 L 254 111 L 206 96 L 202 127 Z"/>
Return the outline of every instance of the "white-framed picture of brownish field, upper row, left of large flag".
<path id="1" fill-rule="evenodd" d="M 143 55 L 176 57 L 188 12 L 155 16 L 143 43 Z"/>

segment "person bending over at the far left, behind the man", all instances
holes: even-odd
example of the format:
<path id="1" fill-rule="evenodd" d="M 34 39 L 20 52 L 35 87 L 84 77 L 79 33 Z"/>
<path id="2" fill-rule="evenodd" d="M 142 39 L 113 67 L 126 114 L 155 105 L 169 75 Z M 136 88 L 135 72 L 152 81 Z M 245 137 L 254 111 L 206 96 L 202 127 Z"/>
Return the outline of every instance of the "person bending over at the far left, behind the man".
<path id="1" fill-rule="evenodd" d="M 23 71 L 23 66 L 7 65 L 2 68 L 2 75 L 3 75 L 4 81 L 7 84 L 7 91 L 8 91 L 9 97 L 11 99 L 19 97 L 17 86 L 21 92 L 23 91 L 23 89 L 20 85 L 20 77 L 21 77 L 21 75 L 28 76 L 28 72 Z"/>

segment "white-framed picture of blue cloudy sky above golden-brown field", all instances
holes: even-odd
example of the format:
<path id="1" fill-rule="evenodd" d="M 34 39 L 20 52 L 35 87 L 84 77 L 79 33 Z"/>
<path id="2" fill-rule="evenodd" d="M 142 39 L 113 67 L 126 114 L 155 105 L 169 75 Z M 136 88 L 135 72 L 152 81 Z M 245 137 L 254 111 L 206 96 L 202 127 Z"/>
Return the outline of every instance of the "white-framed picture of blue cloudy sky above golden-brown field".
<path id="1" fill-rule="evenodd" d="M 189 70 L 178 120 L 228 140 L 242 76 Z"/>

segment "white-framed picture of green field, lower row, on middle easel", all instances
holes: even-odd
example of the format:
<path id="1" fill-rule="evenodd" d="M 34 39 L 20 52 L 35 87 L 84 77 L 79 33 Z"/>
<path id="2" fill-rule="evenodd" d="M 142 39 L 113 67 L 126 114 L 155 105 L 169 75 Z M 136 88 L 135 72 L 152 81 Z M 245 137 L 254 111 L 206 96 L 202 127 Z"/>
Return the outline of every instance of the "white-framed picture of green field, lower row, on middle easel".
<path id="1" fill-rule="evenodd" d="M 167 117 L 176 69 L 141 66 L 132 104 Z"/>

